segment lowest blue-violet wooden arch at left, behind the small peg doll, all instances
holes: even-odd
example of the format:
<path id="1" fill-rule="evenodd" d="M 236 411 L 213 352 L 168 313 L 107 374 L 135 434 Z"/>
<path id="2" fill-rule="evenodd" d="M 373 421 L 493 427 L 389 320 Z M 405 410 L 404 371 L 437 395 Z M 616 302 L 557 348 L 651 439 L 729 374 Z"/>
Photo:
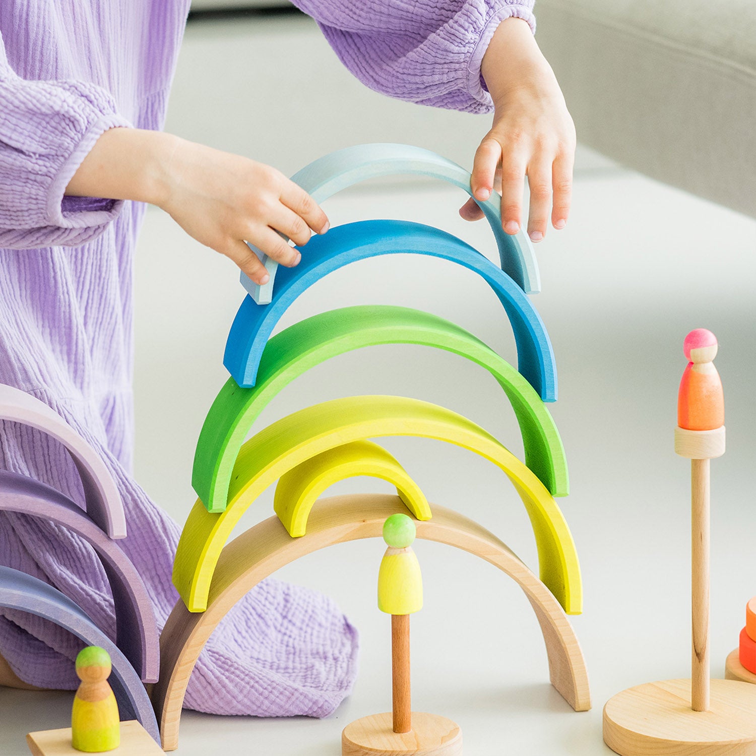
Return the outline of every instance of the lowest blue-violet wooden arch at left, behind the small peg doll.
<path id="1" fill-rule="evenodd" d="M 129 660 L 85 612 L 57 588 L 9 567 L 0 567 L 0 607 L 29 612 L 54 622 L 81 639 L 86 646 L 101 646 L 113 664 L 111 684 L 121 714 L 138 719 L 160 743 L 155 714 L 147 691 Z"/>

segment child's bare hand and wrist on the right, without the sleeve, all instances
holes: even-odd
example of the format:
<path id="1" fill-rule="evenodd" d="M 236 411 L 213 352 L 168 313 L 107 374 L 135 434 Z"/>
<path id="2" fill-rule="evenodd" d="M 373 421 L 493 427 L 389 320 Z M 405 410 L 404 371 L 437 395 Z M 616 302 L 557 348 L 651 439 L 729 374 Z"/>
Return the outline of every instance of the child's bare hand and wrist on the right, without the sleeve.
<path id="1" fill-rule="evenodd" d="M 501 219 L 507 234 L 522 225 L 522 181 L 528 176 L 528 235 L 546 234 L 549 211 L 554 228 L 564 228 L 572 192 L 575 126 L 547 60 L 528 24 L 519 18 L 500 23 L 483 57 L 482 74 L 494 100 L 494 125 L 478 147 L 472 191 L 486 200 L 501 190 Z M 483 217 L 468 200 L 466 220 Z"/>

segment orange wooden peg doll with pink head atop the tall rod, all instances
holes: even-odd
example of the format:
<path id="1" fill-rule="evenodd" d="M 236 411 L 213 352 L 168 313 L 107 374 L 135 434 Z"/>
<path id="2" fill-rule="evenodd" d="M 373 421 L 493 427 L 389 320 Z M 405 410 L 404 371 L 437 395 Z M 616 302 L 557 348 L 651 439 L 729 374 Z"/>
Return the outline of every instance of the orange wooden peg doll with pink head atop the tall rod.
<path id="1" fill-rule="evenodd" d="M 686 430 L 715 430 L 724 425 L 722 382 L 714 367 L 717 339 L 705 328 L 692 330 L 683 351 L 688 366 L 677 395 L 677 425 Z"/>

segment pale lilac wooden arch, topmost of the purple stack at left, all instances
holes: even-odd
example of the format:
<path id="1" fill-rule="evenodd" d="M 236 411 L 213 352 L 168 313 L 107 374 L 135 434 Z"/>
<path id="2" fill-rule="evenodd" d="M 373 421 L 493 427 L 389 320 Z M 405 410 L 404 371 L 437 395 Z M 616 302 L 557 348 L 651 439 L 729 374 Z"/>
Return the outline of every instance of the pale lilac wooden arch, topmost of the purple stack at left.
<path id="1" fill-rule="evenodd" d="M 125 538 L 123 503 L 110 470 L 95 450 L 57 412 L 30 394 L 0 384 L 0 420 L 23 423 L 63 444 L 82 477 L 88 515 L 110 538 Z"/>

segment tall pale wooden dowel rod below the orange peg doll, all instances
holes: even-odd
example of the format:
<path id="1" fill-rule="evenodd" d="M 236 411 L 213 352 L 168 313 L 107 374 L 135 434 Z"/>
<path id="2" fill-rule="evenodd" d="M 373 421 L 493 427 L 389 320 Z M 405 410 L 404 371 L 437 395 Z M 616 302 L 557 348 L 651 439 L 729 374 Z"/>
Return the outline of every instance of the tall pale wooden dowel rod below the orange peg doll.
<path id="1" fill-rule="evenodd" d="M 693 711 L 709 708 L 709 460 L 691 462 L 692 670 Z"/>

